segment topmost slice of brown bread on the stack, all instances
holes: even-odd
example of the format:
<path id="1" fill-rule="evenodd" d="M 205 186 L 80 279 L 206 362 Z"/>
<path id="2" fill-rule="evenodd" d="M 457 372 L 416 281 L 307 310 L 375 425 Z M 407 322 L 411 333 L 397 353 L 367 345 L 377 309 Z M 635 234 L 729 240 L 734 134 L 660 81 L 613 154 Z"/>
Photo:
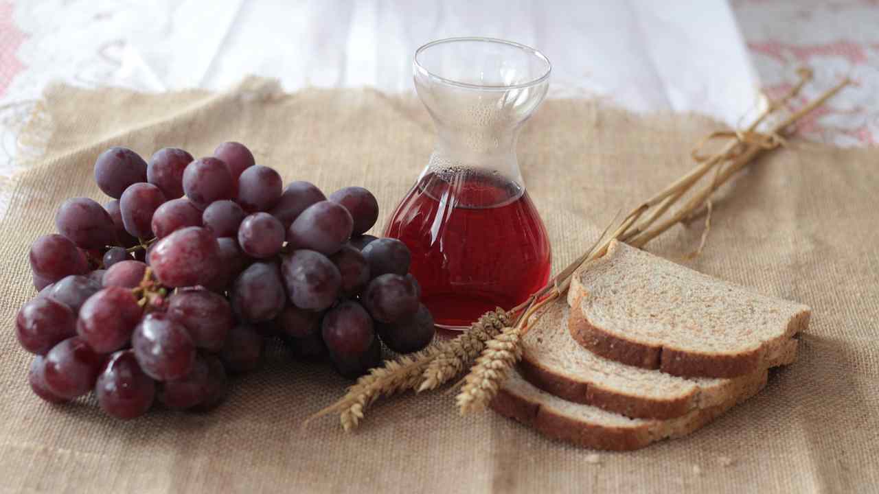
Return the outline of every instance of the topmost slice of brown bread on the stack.
<path id="1" fill-rule="evenodd" d="M 811 312 L 619 242 L 575 273 L 568 301 L 583 315 L 571 335 L 592 352 L 702 377 L 766 367 Z"/>

